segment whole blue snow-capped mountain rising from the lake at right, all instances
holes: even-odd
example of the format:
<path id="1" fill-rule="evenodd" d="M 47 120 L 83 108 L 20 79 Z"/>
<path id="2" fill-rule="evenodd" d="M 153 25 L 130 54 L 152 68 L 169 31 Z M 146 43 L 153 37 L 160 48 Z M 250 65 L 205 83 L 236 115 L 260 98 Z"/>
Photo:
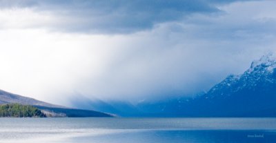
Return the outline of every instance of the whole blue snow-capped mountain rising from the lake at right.
<path id="1" fill-rule="evenodd" d="M 276 116 L 275 55 L 253 61 L 242 75 L 229 75 L 196 102 L 204 115 Z"/>

